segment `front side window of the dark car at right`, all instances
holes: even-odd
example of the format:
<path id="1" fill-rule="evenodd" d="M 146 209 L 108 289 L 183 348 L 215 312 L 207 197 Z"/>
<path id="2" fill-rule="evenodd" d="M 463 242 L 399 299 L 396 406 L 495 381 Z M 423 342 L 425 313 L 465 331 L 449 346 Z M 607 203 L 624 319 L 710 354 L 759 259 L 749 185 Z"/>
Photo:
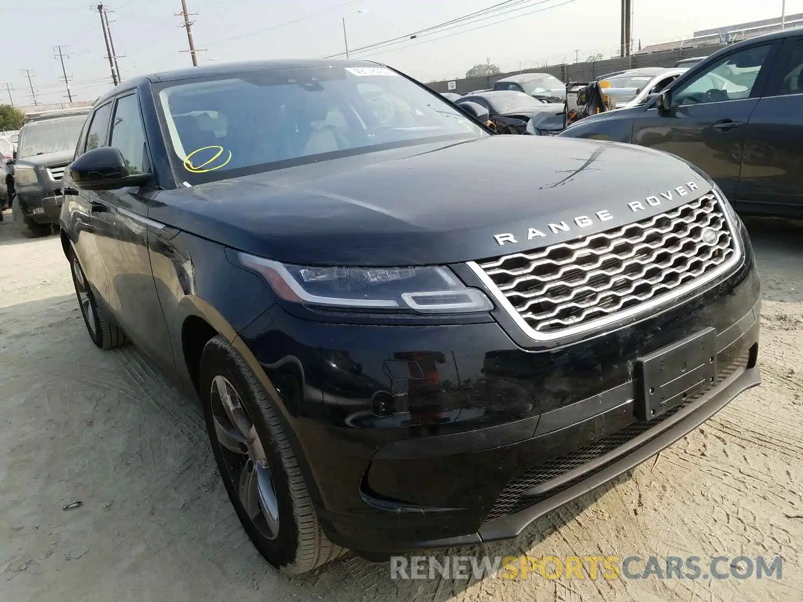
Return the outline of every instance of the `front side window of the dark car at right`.
<path id="1" fill-rule="evenodd" d="M 745 48 L 719 59 L 679 87 L 672 95 L 672 105 L 682 107 L 748 98 L 771 46 Z"/>

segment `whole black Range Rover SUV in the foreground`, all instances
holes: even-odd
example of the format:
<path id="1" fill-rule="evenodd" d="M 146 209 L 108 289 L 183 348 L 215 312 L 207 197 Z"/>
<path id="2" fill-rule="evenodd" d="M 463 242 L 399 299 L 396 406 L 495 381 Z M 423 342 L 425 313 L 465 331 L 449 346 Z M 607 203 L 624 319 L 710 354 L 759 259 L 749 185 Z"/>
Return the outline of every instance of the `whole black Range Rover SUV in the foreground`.
<path id="1" fill-rule="evenodd" d="M 760 382 L 705 174 L 467 111 L 376 63 L 244 63 L 123 83 L 80 136 L 89 335 L 202 404 L 276 567 L 516 536 Z"/>

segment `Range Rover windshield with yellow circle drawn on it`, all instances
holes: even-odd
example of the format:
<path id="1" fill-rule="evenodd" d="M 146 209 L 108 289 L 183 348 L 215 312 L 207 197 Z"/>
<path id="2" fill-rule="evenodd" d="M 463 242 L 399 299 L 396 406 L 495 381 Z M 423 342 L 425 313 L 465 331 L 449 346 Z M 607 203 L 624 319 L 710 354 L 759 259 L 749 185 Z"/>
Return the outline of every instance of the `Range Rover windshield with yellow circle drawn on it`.
<path id="1" fill-rule="evenodd" d="M 195 79 L 157 88 L 157 104 L 175 168 L 190 184 L 486 135 L 453 104 L 385 67 Z"/>

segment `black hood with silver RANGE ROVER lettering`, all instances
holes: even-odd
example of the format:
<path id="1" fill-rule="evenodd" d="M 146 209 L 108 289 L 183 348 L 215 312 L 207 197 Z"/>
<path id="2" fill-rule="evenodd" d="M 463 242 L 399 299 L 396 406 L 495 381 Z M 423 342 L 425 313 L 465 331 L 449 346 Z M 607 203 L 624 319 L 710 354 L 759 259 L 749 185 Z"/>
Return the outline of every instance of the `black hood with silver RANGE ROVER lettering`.
<path id="1" fill-rule="evenodd" d="M 690 165 L 649 148 L 487 136 L 164 191 L 149 217 L 281 262 L 409 266 L 609 230 L 709 189 Z"/>

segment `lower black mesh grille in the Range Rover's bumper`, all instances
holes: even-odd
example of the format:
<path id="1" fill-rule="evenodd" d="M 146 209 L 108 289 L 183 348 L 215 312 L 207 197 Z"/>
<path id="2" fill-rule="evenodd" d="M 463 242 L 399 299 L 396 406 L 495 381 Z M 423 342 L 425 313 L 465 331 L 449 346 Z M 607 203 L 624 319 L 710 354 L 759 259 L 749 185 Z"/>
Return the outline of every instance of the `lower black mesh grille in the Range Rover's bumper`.
<path id="1" fill-rule="evenodd" d="M 610 462 L 608 464 L 597 466 L 597 468 L 594 470 L 589 470 L 573 481 L 569 481 L 560 487 L 556 487 L 553 490 L 545 492 L 544 494 L 531 495 L 527 497 L 522 495 L 528 489 L 540 485 L 541 483 L 550 481 L 553 478 L 560 477 L 561 474 L 566 474 L 569 472 L 569 470 L 575 470 L 584 464 L 587 464 L 588 462 L 592 462 L 594 459 L 612 452 L 619 446 L 625 445 L 634 437 L 638 437 L 638 435 L 653 429 L 656 425 L 661 424 L 662 421 L 666 421 L 667 418 L 674 416 L 675 413 L 678 413 L 681 409 L 693 404 L 700 397 L 703 397 L 703 395 L 708 393 L 711 388 L 716 387 L 729 376 L 732 376 L 737 371 L 747 368 L 749 360 L 750 352 L 744 352 L 743 355 L 738 357 L 731 364 L 728 364 L 726 368 L 722 368 L 719 370 L 719 372 L 717 372 L 714 384 L 701 388 L 694 395 L 687 397 L 686 401 L 683 401 L 682 404 L 668 410 L 655 420 L 633 422 L 623 429 L 619 429 L 616 433 L 611 433 L 606 437 L 602 437 L 601 439 L 594 441 L 591 445 L 586 445 L 580 449 L 575 449 L 569 454 L 560 456 L 560 458 L 552 458 L 552 460 L 548 460 L 539 466 L 534 466 L 531 469 L 525 470 L 523 473 L 514 477 L 511 482 L 507 483 L 507 486 L 505 486 L 505 488 L 502 490 L 502 493 L 500 493 L 499 497 L 496 498 L 496 502 L 491 508 L 491 512 L 488 514 L 486 520 L 498 519 L 500 516 L 513 514 L 519 510 L 524 510 L 524 508 L 527 508 L 528 506 L 535 506 L 538 502 L 542 502 L 544 499 L 550 498 L 552 495 L 558 494 L 560 491 L 576 485 L 577 482 L 580 482 L 585 478 L 589 478 L 592 474 L 604 469 L 605 466 L 609 466 Z M 656 432 L 655 435 L 657 436 L 658 432 Z M 614 459 L 611 462 L 616 462 L 616 460 Z"/>

